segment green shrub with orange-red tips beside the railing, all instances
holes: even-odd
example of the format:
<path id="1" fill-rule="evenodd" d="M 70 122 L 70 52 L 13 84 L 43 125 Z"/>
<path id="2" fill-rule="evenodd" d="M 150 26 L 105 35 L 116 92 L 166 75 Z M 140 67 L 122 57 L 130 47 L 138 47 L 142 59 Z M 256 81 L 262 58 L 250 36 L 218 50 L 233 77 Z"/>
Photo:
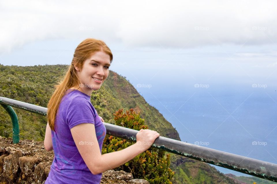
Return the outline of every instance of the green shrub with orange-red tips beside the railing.
<path id="1" fill-rule="evenodd" d="M 126 127 L 134 130 L 148 129 L 144 125 L 144 119 L 139 117 L 133 109 L 123 113 L 123 109 L 118 110 L 115 114 L 115 124 L 121 127 Z M 133 143 L 131 141 L 106 135 L 103 146 L 102 154 L 122 150 Z M 173 177 L 174 172 L 169 168 L 170 155 L 165 151 L 150 147 L 145 152 L 139 154 L 129 162 L 115 168 L 115 170 L 124 170 L 132 173 L 134 178 L 146 179 L 151 184 L 171 184 L 170 179 Z"/>

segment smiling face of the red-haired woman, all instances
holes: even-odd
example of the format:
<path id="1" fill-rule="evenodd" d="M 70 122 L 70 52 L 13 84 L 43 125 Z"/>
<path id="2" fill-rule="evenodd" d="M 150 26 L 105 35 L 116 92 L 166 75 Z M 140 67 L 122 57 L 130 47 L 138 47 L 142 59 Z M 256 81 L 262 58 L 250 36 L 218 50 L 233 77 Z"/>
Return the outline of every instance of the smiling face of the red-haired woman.
<path id="1" fill-rule="evenodd" d="M 93 90 L 100 89 L 108 77 L 110 61 L 108 54 L 98 51 L 84 61 L 82 69 L 75 66 L 83 93 L 90 96 Z"/>

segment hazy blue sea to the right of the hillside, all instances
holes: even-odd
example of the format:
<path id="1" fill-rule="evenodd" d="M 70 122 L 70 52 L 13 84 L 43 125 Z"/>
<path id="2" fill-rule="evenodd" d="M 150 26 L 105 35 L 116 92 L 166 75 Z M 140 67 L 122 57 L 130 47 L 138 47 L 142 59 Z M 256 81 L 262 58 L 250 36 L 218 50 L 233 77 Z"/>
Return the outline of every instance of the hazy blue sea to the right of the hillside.
<path id="1" fill-rule="evenodd" d="M 134 86 L 176 128 L 181 141 L 277 164 L 276 85 L 194 85 Z"/>

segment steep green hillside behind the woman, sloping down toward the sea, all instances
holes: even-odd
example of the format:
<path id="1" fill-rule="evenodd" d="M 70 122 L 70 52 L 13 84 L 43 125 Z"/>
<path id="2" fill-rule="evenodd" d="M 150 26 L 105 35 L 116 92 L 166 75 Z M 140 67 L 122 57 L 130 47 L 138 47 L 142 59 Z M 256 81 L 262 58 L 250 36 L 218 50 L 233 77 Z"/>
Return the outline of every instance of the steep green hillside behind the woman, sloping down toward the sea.
<path id="1" fill-rule="evenodd" d="M 0 65 L 0 96 L 46 107 L 54 85 L 65 74 L 67 65 L 3 66 Z M 178 132 L 158 110 L 150 106 L 123 77 L 111 71 L 100 90 L 93 92 L 91 103 L 105 122 L 114 123 L 113 113 L 123 108 L 140 111 L 149 129 L 180 140 Z M 18 115 L 20 139 L 44 140 L 46 117 L 14 108 Z M 0 110 L 0 136 L 12 137 L 9 115 Z M 209 164 L 171 154 L 173 183 L 234 183 Z"/>

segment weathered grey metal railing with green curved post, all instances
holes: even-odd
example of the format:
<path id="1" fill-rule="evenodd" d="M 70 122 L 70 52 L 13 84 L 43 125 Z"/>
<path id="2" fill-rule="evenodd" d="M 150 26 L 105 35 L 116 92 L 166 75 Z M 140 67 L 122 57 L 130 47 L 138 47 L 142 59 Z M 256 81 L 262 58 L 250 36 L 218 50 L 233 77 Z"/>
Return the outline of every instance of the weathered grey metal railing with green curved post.
<path id="1" fill-rule="evenodd" d="M 0 97 L 0 104 L 5 108 L 12 118 L 13 143 L 19 142 L 19 129 L 17 116 L 12 107 L 44 116 L 47 114 L 47 108 L 5 97 Z M 120 127 L 109 123 L 104 123 L 104 125 L 106 127 L 107 134 L 121 137 L 123 139 L 128 139 L 134 142 L 136 141 L 136 133 L 138 133 L 137 130 Z M 169 139 L 162 136 L 158 137 L 152 146 L 163 149 L 167 152 L 277 182 L 277 164 L 222 152 L 219 150 L 177 141 L 175 139 Z"/>

